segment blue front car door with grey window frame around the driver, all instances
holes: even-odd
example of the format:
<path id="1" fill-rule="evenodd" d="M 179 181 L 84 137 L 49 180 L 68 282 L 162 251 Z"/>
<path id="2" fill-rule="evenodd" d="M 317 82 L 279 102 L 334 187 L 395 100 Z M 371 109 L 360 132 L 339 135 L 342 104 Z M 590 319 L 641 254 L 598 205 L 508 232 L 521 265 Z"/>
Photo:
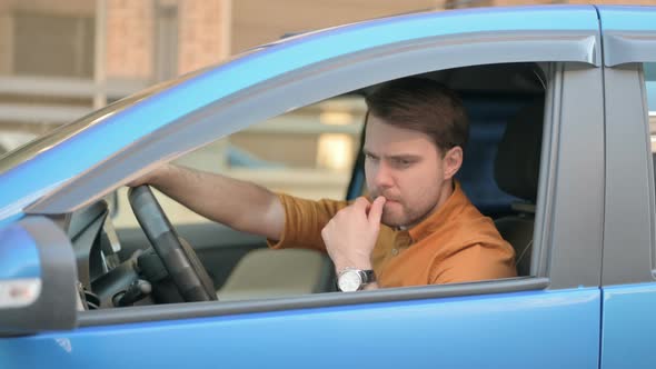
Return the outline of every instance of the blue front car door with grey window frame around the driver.
<path id="1" fill-rule="evenodd" d="M 78 329 L 3 338 L 0 353 L 10 356 L 10 368 L 53 363 L 67 368 L 597 368 L 605 180 L 599 40 L 594 7 L 470 10 L 377 20 L 292 40 L 267 51 L 268 59 L 261 62 L 250 59 L 252 68 L 265 68 L 266 61 L 284 64 L 287 71 L 243 91 L 229 104 L 210 107 L 213 118 L 222 118 L 219 121 L 248 122 L 409 74 L 505 62 L 544 63 L 545 129 L 530 276 L 275 300 L 80 311 Z M 321 62 L 301 62 L 302 56 L 319 58 L 334 49 L 341 53 Z M 217 76 L 230 72 L 225 68 Z M 192 117 L 198 124 L 186 121 L 168 129 L 179 138 L 176 142 L 182 142 L 175 149 L 163 136 L 149 139 L 99 163 L 29 211 L 66 212 L 102 192 L 98 183 L 109 191 L 112 183 L 156 158 L 183 151 L 183 144 L 198 143 L 199 136 L 216 136 L 216 124 L 202 124 L 203 112 Z M 582 142 L 587 149 L 583 152 Z M 139 150 L 139 160 L 146 164 L 126 159 L 133 150 Z"/>

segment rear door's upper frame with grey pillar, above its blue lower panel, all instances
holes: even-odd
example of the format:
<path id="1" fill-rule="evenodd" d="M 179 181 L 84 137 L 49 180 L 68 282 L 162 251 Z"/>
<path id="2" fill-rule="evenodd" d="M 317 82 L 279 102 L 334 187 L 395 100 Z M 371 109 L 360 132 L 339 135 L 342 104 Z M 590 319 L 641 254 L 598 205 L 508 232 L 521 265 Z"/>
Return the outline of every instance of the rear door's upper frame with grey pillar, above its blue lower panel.
<path id="1" fill-rule="evenodd" d="M 604 29 L 607 147 L 602 283 L 652 282 L 656 195 L 643 63 L 656 62 L 656 9 L 597 8 Z"/>

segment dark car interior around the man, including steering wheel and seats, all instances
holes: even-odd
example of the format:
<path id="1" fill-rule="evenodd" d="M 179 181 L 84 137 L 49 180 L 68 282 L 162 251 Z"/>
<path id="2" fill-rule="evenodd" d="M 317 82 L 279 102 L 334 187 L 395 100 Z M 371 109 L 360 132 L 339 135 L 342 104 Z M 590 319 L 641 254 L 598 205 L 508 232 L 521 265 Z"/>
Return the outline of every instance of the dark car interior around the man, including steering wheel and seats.
<path id="1" fill-rule="evenodd" d="M 418 76 L 460 94 L 470 134 L 457 180 L 515 248 L 520 277 L 531 275 L 544 68 L 533 62 L 487 64 Z M 360 152 L 345 199 L 364 193 L 364 183 Z M 62 217 L 78 262 L 80 309 L 336 291 L 326 255 L 269 250 L 264 238 L 218 223 L 170 225 L 147 187 L 129 196 L 141 228 L 115 229 L 106 200 Z"/>

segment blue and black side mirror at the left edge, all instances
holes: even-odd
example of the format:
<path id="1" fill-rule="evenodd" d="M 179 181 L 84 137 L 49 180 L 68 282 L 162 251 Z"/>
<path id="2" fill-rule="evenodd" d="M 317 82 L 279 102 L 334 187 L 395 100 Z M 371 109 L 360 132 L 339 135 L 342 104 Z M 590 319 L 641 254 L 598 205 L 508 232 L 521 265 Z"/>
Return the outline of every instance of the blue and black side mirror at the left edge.
<path id="1" fill-rule="evenodd" d="M 48 218 L 0 229 L 0 336 L 76 327 L 74 260 L 70 240 Z"/>

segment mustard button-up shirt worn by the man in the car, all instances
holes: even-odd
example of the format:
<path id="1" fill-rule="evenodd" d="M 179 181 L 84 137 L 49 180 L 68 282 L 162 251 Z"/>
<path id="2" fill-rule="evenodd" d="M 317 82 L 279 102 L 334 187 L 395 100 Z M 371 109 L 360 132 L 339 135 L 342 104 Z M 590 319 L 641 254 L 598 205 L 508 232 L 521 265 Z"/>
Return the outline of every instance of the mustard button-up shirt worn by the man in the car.
<path id="1" fill-rule="evenodd" d="M 305 200 L 279 195 L 286 219 L 275 249 L 326 252 L 321 229 L 346 201 Z M 380 226 L 371 253 L 379 287 L 471 282 L 516 277 L 515 250 L 467 199 L 459 183 L 433 215 L 408 230 Z"/>

